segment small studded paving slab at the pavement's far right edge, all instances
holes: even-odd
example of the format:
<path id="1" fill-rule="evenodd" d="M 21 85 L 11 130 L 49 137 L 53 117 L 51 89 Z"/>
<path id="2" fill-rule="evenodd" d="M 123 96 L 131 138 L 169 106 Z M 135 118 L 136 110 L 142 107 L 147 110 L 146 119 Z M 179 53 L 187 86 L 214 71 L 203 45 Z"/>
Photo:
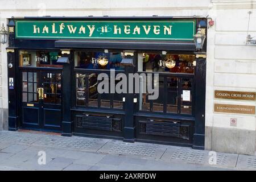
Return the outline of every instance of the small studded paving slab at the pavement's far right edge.
<path id="1" fill-rule="evenodd" d="M 256 156 L 239 155 L 237 160 L 238 170 L 256 170 Z"/>

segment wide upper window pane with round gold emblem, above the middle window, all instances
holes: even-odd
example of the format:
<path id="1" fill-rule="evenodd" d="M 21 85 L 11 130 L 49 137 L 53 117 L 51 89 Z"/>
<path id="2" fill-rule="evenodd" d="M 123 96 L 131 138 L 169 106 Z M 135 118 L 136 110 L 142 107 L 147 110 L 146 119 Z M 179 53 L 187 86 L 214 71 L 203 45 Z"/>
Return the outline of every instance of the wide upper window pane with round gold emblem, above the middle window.
<path id="1" fill-rule="evenodd" d="M 75 68 L 84 69 L 117 69 L 123 70 L 120 64 L 124 54 L 122 52 L 75 52 Z"/>

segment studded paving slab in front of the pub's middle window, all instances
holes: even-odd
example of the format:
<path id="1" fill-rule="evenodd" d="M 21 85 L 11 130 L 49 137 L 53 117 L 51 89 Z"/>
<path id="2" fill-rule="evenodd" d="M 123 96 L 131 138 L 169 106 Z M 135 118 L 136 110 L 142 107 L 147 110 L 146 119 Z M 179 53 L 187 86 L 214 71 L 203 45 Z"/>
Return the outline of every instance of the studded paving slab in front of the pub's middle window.
<path id="1" fill-rule="evenodd" d="M 139 158 L 160 159 L 167 146 L 147 143 L 125 143 L 112 140 L 103 146 L 98 152 L 103 154 L 133 155 Z"/>

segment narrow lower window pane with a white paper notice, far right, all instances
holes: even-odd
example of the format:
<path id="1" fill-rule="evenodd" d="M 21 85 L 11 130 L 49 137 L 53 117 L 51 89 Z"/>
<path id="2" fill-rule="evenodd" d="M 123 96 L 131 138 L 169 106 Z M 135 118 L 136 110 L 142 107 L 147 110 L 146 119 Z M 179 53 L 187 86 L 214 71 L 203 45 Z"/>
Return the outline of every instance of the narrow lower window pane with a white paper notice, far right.
<path id="1" fill-rule="evenodd" d="M 192 78 L 181 79 L 181 114 L 192 114 Z"/>

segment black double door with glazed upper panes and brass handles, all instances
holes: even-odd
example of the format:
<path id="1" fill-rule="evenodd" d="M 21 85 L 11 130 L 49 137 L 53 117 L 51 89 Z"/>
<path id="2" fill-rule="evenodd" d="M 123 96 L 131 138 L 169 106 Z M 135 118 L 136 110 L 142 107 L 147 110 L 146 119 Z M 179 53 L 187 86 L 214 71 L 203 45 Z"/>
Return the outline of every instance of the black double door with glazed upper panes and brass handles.
<path id="1" fill-rule="evenodd" d="M 20 125 L 61 130 L 61 71 L 20 71 Z"/>

